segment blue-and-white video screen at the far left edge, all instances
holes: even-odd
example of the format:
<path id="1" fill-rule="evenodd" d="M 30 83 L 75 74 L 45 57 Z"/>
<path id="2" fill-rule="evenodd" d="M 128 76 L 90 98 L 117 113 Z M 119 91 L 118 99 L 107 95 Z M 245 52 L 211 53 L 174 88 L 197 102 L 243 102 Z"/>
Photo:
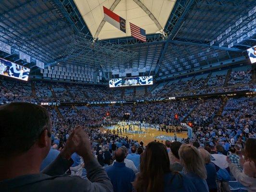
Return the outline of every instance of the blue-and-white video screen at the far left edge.
<path id="1" fill-rule="evenodd" d="M 27 81 L 30 69 L 0 58 L 0 75 Z"/>

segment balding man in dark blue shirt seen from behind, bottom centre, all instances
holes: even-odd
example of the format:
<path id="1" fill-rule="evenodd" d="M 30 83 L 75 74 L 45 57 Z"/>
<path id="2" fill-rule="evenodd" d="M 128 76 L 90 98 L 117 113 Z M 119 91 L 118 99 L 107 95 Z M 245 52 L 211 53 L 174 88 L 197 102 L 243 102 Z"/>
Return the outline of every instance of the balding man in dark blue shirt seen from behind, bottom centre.
<path id="1" fill-rule="evenodd" d="M 106 173 L 111 180 L 114 192 L 131 192 L 131 182 L 135 179 L 135 174 L 132 169 L 125 166 L 125 151 L 118 148 L 115 151 L 115 162 L 112 166 L 105 168 Z"/>

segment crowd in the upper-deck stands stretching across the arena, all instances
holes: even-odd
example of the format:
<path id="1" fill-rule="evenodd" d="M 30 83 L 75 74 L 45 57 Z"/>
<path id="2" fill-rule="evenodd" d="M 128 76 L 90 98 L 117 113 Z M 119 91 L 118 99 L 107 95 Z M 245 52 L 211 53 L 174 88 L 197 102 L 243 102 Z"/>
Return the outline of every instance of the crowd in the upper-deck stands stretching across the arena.
<path id="1" fill-rule="evenodd" d="M 1 101 L 33 101 L 33 102 L 90 102 L 90 101 L 119 101 L 133 99 L 152 99 L 170 96 L 193 96 L 214 94 L 230 91 L 255 89 L 251 83 L 252 74 L 247 71 L 231 71 L 228 86 L 223 87 L 227 74 L 211 75 L 208 81 L 205 77 L 193 77 L 190 80 L 180 79 L 164 84 L 161 88 L 148 91 L 143 98 L 135 97 L 132 89 L 109 88 L 105 86 L 85 84 L 52 84 L 32 82 L 35 94 L 32 94 L 31 83 L 19 81 L 0 81 Z M 154 85 L 155 86 L 155 85 Z M 130 91 L 131 90 L 131 91 Z M 123 97 L 123 98 L 122 98 Z"/>

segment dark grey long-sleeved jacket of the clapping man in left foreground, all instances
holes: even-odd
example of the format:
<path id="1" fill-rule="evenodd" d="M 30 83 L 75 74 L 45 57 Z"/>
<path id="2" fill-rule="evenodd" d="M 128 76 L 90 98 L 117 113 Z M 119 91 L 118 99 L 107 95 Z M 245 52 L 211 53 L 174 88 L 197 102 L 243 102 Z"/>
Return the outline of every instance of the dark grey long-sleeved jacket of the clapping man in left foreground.
<path id="1" fill-rule="evenodd" d="M 112 192 L 111 181 L 96 159 L 85 164 L 88 180 L 63 175 L 73 164 L 60 155 L 41 173 L 0 181 L 1 192 Z"/>

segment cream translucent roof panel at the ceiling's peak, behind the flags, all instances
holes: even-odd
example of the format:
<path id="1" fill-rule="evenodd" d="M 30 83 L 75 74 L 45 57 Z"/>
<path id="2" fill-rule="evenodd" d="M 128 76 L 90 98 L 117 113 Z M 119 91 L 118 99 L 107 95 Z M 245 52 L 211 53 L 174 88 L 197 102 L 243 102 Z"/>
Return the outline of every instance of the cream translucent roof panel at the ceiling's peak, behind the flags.
<path id="1" fill-rule="evenodd" d="M 129 22 L 147 34 L 163 31 L 176 0 L 74 0 L 90 33 L 100 39 L 131 36 Z M 103 6 L 126 20 L 127 32 L 104 21 Z"/>

